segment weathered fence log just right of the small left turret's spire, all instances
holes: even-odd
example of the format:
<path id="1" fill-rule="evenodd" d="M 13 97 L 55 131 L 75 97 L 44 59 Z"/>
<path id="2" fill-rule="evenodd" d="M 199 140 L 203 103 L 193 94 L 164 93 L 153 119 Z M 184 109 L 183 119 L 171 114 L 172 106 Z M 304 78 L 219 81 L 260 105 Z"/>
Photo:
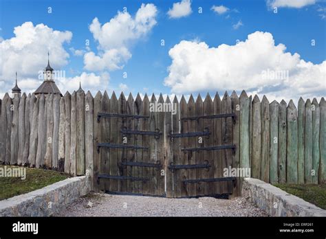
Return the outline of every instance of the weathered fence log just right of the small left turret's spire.
<path id="1" fill-rule="evenodd" d="M 26 94 L 21 95 L 19 101 L 19 114 L 18 114 L 18 155 L 17 164 L 19 166 L 23 165 L 23 152 L 25 146 L 25 103 Z"/>

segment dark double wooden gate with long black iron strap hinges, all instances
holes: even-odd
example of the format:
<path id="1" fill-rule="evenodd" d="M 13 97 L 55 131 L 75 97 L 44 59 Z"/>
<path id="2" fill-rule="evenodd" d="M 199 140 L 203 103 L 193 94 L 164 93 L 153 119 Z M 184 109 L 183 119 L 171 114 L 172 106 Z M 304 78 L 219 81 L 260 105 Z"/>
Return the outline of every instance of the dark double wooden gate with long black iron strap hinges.
<path id="1" fill-rule="evenodd" d="M 185 197 L 237 194 L 231 98 L 171 102 L 138 94 L 94 98 L 95 187 L 109 193 Z M 239 130 L 239 128 L 238 128 Z M 239 133 L 239 132 L 238 132 Z M 237 138 L 237 137 L 235 137 Z M 96 163 L 98 162 L 98 163 Z"/>

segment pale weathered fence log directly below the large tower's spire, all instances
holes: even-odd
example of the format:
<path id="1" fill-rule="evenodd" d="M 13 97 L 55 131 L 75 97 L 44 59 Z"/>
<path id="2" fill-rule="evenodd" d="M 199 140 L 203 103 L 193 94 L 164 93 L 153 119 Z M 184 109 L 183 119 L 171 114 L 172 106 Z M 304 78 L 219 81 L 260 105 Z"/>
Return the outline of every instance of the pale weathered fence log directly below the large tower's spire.
<path id="1" fill-rule="evenodd" d="M 46 152 L 44 157 L 45 168 L 52 168 L 52 150 L 53 150 L 53 126 L 54 126 L 54 118 L 53 118 L 53 101 L 54 94 L 50 94 L 45 100 L 47 104 L 47 119 L 46 119 Z M 44 144 L 44 142 L 42 143 Z M 76 176 L 76 174 L 74 174 Z"/>

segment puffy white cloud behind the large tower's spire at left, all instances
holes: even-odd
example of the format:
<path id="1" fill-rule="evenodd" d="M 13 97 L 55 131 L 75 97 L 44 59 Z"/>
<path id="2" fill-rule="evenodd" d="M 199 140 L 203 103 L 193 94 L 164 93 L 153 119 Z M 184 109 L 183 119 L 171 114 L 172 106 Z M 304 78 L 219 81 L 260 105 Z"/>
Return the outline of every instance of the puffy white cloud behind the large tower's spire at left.
<path id="1" fill-rule="evenodd" d="M 16 71 L 21 89 L 36 89 L 42 82 L 38 73 L 47 65 L 47 52 L 50 51 L 51 66 L 60 69 L 68 63 L 69 54 L 63 45 L 71 39 L 72 32 L 53 30 L 43 23 L 25 22 L 14 27 L 14 36 L 0 42 L 1 91 L 11 91 Z"/>

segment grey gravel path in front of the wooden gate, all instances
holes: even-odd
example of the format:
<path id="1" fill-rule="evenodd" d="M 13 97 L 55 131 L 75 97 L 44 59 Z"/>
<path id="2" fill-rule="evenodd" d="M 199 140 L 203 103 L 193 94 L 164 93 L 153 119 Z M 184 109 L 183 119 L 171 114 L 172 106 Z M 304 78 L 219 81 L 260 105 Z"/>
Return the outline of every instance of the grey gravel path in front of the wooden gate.
<path id="1" fill-rule="evenodd" d="M 268 216 L 246 198 L 159 198 L 89 194 L 58 216 Z"/>

